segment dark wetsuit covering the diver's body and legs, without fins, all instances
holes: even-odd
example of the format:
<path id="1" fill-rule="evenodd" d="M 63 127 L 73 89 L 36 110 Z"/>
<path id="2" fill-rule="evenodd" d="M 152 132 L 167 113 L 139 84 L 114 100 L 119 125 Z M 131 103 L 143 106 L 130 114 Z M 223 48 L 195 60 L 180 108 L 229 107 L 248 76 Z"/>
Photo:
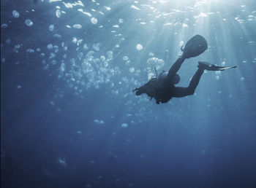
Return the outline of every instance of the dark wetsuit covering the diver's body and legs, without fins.
<path id="1" fill-rule="evenodd" d="M 193 95 L 195 92 L 195 88 L 197 87 L 200 77 L 203 74 L 204 68 L 198 68 L 195 75 L 192 77 L 189 87 L 175 87 L 172 84 L 172 80 L 178 72 L 179 68 L 181 68 L 181 64 L 184 62 L 186 58 L 181 56 L 173 63 L 170 70 L 168 71 L 167 77 L 165 79 L 150 79 L 146 85 L 142 87 L 136 88 L 136 95 L 141 95 L 146 93 L 149 97 L 155 98 L 157 103 L 167 103 L 171 98 L 181 98 L 187 95 Z"/>

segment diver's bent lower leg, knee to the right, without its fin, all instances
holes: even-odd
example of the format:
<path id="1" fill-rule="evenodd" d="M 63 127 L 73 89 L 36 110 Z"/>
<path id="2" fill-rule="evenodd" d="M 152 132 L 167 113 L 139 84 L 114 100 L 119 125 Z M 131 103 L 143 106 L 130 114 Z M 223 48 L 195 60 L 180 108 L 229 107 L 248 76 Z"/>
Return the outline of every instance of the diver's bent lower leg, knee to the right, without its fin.
<path id="1" fill-rule="evenodd" d="M 192 77 L 189 83 L 189 87 L 175 87 L 173 91 L 173 97 L 179 98 L 185 97 L 187 95 L 193 95 L 204 70 L 204 68 L 197 69 L 195 75 Z"/>

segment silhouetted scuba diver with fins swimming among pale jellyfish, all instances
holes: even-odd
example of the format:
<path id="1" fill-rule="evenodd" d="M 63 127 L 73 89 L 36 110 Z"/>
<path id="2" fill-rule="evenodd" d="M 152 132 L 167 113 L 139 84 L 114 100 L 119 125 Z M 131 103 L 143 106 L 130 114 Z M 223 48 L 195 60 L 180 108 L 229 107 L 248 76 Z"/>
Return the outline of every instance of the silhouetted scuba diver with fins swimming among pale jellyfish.
<path id="1" fill-rule="evenodd" d="M 205 70 L 208 71 L 224 71 L 228 68 L 236 68 L 236 66 L 216 66 L 211 63 L 199 61 L 198 69 L 195 75 L 192 77 L 189 87 L 176 87 L 180 81 L 180 77 L 177 74 L 181 64 L 187 58 L 196 57 L 200 55 L 208 48 L 206 39 L 203 36 L 196 35 L 192 39 L 189 39 L 185 47 L 181 47 L 182 55 L 173 63 L 169 71 L 162 71 L 161 74 L 156 75 L 157 77 L 152 77 L 145 85 L 135 88 L 132 90 L 136 91 L 136 95 L 142 95 L 146 93 L 149 97 L 155 98 L 157 104 L 167 103 L 171 98 L 181 98 L 187 95 L 193 95 L 195 93 L 195 88 L 197 87 L 200 77 L 203 75 Z M 156 74 L 157 70 L 155 68 Z"/>

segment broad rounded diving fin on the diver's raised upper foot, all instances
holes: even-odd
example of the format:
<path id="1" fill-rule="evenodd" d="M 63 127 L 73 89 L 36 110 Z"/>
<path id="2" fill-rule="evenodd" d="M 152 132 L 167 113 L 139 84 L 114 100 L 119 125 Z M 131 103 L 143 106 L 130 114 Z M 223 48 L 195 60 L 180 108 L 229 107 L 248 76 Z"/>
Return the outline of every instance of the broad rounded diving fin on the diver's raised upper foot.
<path id="1" fill-rule="evenodd" d="M 200 55 L 208 48 L 208 44 L 206 39 L 203 36 L 196 35 L 193 36 L 187 44 L 185 45 L 184 49 L 181 47 L 181 51 L 183 52 L 184 58 L 192 58 Z"/>

